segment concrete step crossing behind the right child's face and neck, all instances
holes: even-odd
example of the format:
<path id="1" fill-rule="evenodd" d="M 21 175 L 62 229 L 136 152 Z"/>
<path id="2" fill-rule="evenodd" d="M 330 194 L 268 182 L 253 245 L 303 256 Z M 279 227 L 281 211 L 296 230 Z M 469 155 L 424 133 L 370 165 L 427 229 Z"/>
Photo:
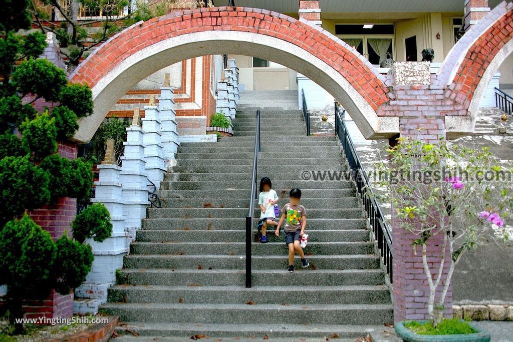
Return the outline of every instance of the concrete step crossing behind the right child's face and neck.
<path id="1" fill-rule="evenodd" d="M 208 176 L 208 174 L 206 174 Z M 166 198 L 162 199 L 164 208 L 248 208 L 248 199 L 215 199 L 215 198 Z M 278 207 L 281 209 L 288 203 L 288 198 L 278 200 Z M 338 198 L 304 198 L 301 204 L 308 209 L 336 209 L 336 208 L 359 208 L 360 200 L 356 197 Z M 258 201 L 255 200 L 255 207 Z"/>

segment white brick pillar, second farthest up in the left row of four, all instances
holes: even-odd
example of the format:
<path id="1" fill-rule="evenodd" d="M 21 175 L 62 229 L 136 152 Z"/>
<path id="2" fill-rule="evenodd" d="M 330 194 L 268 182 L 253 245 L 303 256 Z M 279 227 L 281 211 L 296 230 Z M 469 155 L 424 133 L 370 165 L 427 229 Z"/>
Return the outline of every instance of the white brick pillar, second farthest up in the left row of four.
<path id="1" fill-rule="evenodd" d="M 144 107 L 144 158 L 146 160 L 146 174 L 157 189 L 164 179 L 166 167 L 164 163 L 164 150 L 162 148 L 160 109 L 155 105 L 155 96 L 150 97 L 150 104 Z"/>

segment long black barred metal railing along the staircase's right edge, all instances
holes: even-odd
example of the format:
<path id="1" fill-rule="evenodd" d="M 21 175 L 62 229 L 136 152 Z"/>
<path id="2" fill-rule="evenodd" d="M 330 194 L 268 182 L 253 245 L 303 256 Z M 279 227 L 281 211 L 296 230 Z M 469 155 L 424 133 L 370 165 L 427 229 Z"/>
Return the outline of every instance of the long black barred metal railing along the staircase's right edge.
<path id="1" fill-rule="evenodd" d="M 342 149 L 344 150 L 347 163 L 349 164 L 349 169 L 351 170 L 351 176 L 356 183 L 358 194 L 362 199 L 367 218 L 372 228 L 372 233 L 381 251 L 383 265 L 390 276 L 390 283 L 392 283 L 392 234 L 390 227 L 385 221 L 380 205 L 372 195 L 369 179 L 363 169 L 356 148 L 354 148 L 352 139 L 349 136 L 347 126 L 344 123 L 344 114 L 345 110 L 341 112 L 338 103 L 335 102 L 335 132 L 339 136 Z"/>

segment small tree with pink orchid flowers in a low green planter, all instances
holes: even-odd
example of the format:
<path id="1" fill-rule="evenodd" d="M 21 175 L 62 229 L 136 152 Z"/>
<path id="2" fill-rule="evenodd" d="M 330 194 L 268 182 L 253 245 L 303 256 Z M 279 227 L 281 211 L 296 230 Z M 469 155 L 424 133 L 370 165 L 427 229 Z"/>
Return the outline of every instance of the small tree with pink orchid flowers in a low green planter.
<path id="1" fill-rule="evenodd" d="M 511 165 L 500 165 L 486 148 L 444 140 L 428 144 L 399 138 L 387 152 L 390 160 L 377 163 L 375 183 L 383 190 L 377 196 L 392 205 L 394 227 L 417 236 L 411 248 L 422 254 L 429 284 L 429 320 L 396 323 L 396 332 L 406 341 L 489 341 L 486 332 L 465 321 L 444 319 L 444 303 L 453 271 L 466 252 L 485 241 L 513 241 Z M 438 260 L 427 257 L 433 238 L 440 242 Z"/>

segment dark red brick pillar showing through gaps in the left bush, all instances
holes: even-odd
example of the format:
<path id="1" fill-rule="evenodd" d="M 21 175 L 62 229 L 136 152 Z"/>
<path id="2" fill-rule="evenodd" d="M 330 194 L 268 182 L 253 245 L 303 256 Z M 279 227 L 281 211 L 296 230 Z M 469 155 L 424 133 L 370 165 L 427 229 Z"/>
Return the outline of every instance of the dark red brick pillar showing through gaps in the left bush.
<path id="1" fill-rule="evenodd" d="M 76 158 L 77 145 L 70 142 L 59 142 L 57 152 L 68 159 Z M 76 198 L 62 197 L 55 204 L 47 204 L 42 208 L 29 212 L 34 222 L 50 232 L 54 240 L 61 237 L 66 231 L 71 236 L 71 222 L 76 216 Z M 61 295 L 54 290 L 43 300 L 25 300 L 25 317 L 35 318 L 45 316 L 48 318 L 65 317 L 73 315 L 73 293 Z"/>

